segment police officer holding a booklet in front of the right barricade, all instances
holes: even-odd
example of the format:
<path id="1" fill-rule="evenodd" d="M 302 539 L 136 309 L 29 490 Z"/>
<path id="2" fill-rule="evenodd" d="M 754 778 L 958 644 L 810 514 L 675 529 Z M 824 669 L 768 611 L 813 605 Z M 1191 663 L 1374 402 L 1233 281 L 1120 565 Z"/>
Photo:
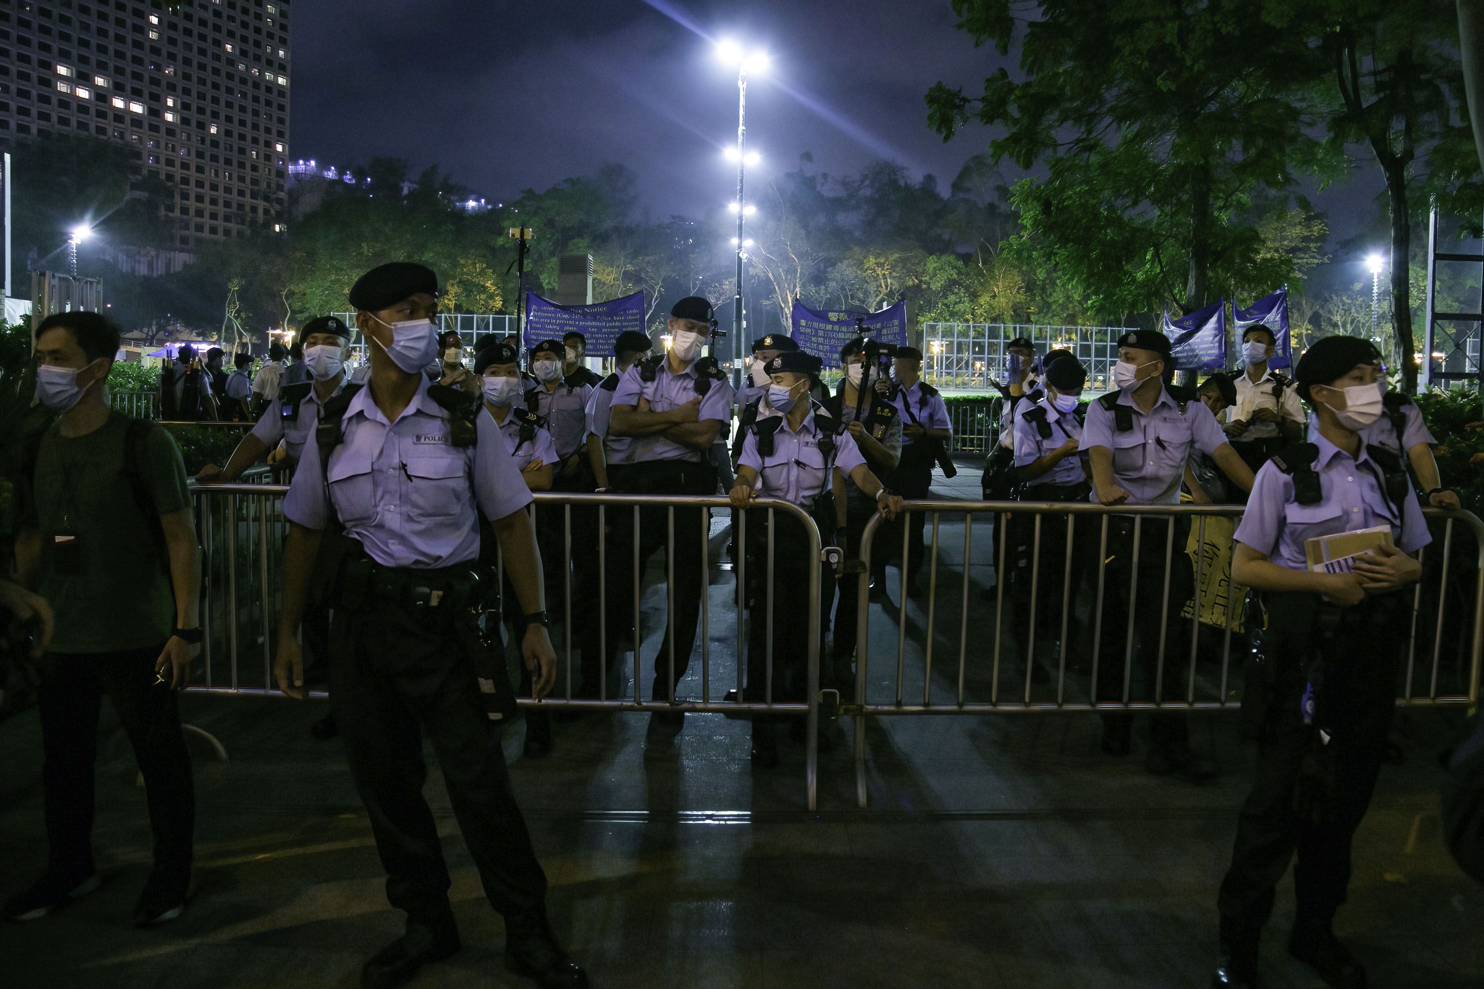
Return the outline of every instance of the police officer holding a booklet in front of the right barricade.
<path id="1" fill-rule="evenodd" d="M 1261 596 L 1270 669 L 1250 675 L 1242 698 L 1257 715 L 1257 770 L 1217 900 L 1217 986 L 1257 983 L 1258 934 L 1296 851 L 1290 953 L 1330 986 L 1367 982 L 1331 921 L 1395 710 L 1411 618 L 1410 595 L 1398 592 L 1422 577 L 1411 555 L 1429 543 L 1401 458 L 1365 443 L 1386 387 L 1371 344 L 1325 337 L 1296 377 L 1318 436 L 1257 473 L 1232 563 L 1232 578 Z M 1392 544 L 1349 571 L 1309 569 L 1306 540 L 1371 526 L 1389 529 Z"/>

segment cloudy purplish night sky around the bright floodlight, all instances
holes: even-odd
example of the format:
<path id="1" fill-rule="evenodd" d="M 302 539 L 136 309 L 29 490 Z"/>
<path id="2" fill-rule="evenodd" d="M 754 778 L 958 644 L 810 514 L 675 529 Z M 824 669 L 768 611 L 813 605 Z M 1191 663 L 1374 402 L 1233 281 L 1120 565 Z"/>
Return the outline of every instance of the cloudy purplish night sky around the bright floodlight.
<path id="1" fill-rule="evenodd" d="M 491 202 L 619 162 L 653 218 L 735 197 L 721 148 L 736 139 L 736 71 L 717 39 L 772 56 L 748 85 L 748 144 L 763 154 L 749 184 L 809 151 L 810 171 L 889 159 L 947 191 L 990 135 L 971 126 L 944 144 L 923 93 L 939 80 L 976 92 L 1002 61 L 954 30 L 948 0 L 313 0 L 294 16 L 295 159 L 436 162 Z M 1361 162 L 1316 199 L 1331 243 L 1377 219 L 1380 179 Z"/>

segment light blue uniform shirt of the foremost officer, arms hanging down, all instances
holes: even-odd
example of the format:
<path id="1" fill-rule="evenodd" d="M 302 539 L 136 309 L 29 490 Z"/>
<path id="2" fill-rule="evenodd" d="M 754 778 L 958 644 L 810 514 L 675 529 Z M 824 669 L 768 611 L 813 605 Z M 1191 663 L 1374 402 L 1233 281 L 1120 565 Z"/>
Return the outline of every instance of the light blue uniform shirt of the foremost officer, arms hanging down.
<path id="1" fill-rule="evenodd" d="M 500 427 L 479 415 L 478 442 L 450 442 L 448 412 L 427 396 L 427 378 L 396 423 L 362 388 L 343 420 L 344 439 L 319 466 L 319 446 L 304 446 L 283 497 L 283 515 L 310 529 L 329 523 L 329 500 L 346 535 L 383 566 L 453 566 L 479 555 L 479 512 L 497 520 L 524 509 L 531 492 L 510 458 Z M 478 512 L 475 506 L 478 504 Z"/>

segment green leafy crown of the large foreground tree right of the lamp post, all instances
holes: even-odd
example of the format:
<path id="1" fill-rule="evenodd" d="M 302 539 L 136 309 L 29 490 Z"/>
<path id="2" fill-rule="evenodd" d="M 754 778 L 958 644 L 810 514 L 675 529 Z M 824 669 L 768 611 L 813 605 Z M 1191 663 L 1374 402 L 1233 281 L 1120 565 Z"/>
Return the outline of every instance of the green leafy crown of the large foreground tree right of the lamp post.
<path id="1" fill-rule="evenodd" d="M 1000 68 L 978 96 L 938 83 L 929 125 L 1003 128 L 990 159 L 1043 163 L 1014 203 L 1025 230 L 1100 308 L 1189 311 L 1257 243 L 1236 219 L 1260 190 L 1318 163 L 1297 96 L 1303 39 L 1258 0 L 954 0 L 959 27 L 1000 53 L 1020 43 L 1024 82 Z"/>

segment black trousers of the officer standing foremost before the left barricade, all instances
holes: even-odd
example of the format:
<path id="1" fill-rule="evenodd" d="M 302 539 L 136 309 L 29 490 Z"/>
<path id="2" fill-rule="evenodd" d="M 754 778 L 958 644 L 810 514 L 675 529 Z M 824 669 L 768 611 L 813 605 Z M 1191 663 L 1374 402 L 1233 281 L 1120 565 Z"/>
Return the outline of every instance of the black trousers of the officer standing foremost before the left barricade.
<path id="1" fill-rule="evenodd" d="M 439 571 L 381 572 L 427 583 Z M 410 925 L 436 928 L 450 916 L 448 866 L 423 798 L 423 732 L 491 906 L 508 924 L 534 922 L 545 910 L 546 875 L 479 694 L 479 652 L 472 608 L 368 595 L 338 603 L 331 623 L 331 707 L 387 872 L 386 897 Z"/>

